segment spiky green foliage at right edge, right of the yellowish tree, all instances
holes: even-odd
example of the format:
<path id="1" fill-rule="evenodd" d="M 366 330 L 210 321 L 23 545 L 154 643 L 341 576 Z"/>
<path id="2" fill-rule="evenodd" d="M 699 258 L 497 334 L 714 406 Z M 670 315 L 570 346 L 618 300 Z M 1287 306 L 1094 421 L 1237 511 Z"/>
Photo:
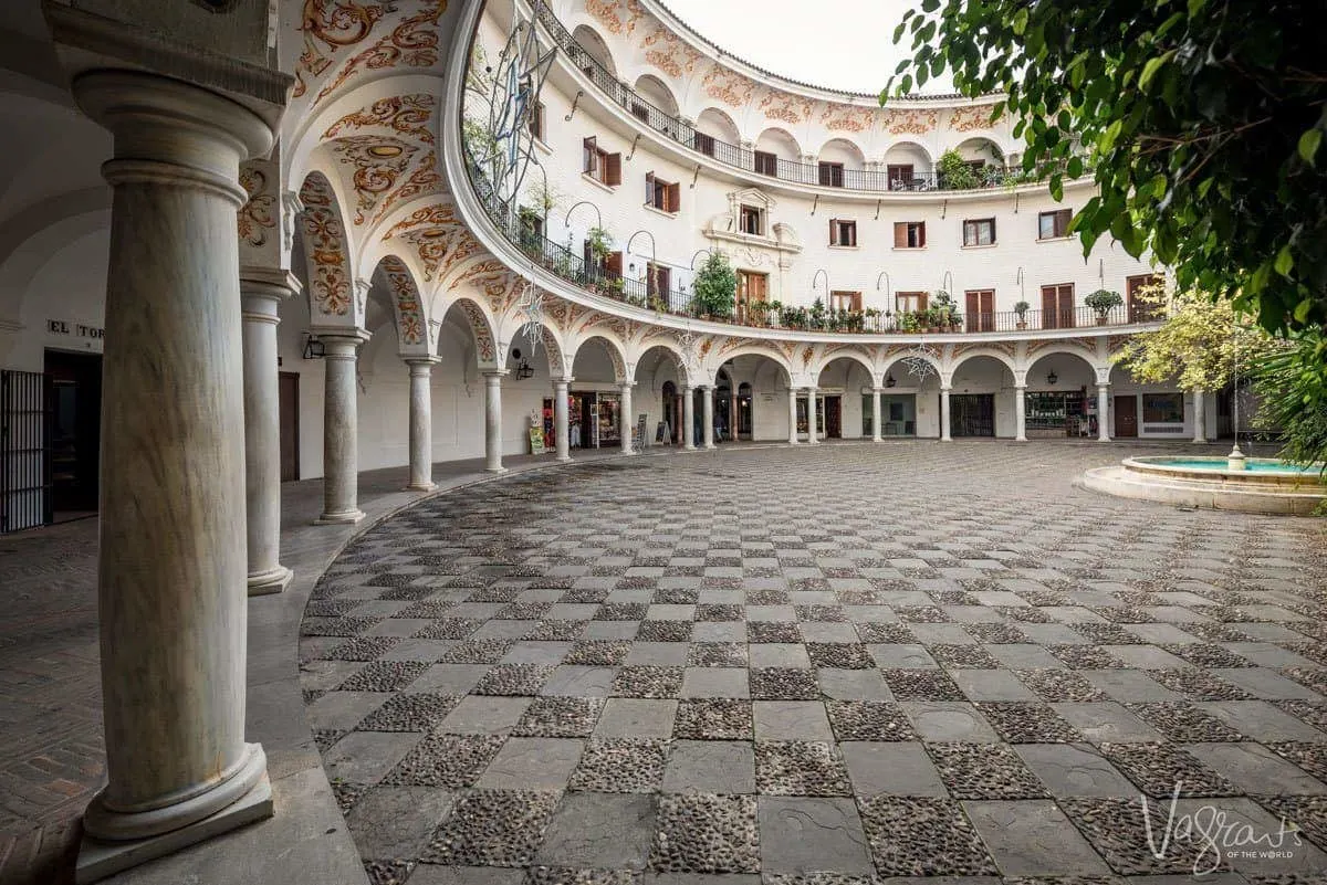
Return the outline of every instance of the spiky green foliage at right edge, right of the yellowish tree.
<path id="1" fill-rule="evenodd" d="M 1254 391 L 1262 400 L 1258 423 L 1283 435 L 1281 457 L 1296 464 L 1323 464 L 1327 481 L 1327 384 L 1315 371 L 1327 360 L 1322 333 L 1296 335 L 1259 362 Z"/>

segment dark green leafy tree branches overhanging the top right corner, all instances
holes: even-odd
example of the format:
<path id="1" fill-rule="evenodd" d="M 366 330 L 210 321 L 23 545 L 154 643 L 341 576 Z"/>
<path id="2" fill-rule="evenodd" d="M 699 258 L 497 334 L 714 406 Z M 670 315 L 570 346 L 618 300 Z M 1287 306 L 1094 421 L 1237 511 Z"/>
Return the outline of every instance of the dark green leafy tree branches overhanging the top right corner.
<path id="1" fill-rule="evenodd" d="M 1084 252 L 1109 233 L 1267 330 L 1311 329 L 1327 323 L 1320 15 L 1320 0 L 922 0 L 880 99 L 946 69 L 966 95 L 1002 94 L 995 115 L 1015 118 L 1055 199 L 1095 174 L 1071 228 Z"/>

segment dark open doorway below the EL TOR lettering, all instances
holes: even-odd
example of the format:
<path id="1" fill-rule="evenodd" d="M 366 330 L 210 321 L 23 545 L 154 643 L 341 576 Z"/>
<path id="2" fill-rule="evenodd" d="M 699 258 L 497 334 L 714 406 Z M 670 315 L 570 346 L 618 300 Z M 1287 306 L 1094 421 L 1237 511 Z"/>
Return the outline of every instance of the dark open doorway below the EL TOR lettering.
<path id="1" fill-rule="evenodd" d="M 50 499 L 56 521 L 97 511 L 101 354 L 46 351 Z"/>

